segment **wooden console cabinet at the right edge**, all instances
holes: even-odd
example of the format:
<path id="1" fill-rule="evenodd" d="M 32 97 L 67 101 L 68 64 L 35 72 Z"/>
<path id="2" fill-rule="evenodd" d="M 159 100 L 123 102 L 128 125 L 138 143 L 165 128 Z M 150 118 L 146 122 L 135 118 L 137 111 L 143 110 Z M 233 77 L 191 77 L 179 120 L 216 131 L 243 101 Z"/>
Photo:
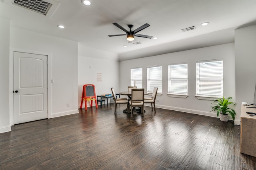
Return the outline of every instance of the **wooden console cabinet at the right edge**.
<path id="1" fill-rule="evenodd" d="M 256 113 L 256 108 L 241 108 L 240 152 L 256 157 L 256 115 L 249 116 L 246 111 Z"/>

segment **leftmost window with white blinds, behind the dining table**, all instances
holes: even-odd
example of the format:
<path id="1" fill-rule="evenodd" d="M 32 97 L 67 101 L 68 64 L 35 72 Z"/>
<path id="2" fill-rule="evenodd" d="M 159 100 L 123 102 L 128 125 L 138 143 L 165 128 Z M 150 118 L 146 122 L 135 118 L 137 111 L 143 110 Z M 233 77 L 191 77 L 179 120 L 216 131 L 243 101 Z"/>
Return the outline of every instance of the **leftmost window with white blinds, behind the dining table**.
<path id="1" fill-rule="evenodd" d="M 142 88 L 142 68 L 131 68 L 131 86 L 134 85 Z"/>

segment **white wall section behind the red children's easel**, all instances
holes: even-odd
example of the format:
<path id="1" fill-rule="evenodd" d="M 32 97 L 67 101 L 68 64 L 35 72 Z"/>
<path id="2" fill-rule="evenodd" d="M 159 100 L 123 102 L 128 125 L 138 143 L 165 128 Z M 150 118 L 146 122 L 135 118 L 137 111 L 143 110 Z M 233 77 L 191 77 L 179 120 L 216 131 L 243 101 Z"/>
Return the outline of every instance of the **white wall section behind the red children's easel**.
<path id="1" fill-rule="evenodd" d="M 102 81 L 96 80 L 97 73 L 101 73 Z M 111 94 L 111 87 L 119 91 L 118 55 L 85 47 L 78 43 L 78 108 L 84 84 L 94 84 L 96 95 Z M 82 107 L 85 107 L 84 102 Z"/>

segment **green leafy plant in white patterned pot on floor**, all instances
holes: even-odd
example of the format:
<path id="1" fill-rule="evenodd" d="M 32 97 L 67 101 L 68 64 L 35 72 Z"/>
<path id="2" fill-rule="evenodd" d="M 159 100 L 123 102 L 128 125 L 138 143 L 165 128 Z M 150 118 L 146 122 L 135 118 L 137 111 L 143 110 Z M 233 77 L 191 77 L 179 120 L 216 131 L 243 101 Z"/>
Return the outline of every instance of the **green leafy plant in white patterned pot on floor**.
<path id="1" fill-rule="evenodd" d="M 220 114 L 220 120 L 221 121 L 228 121 L 228 114 L 229 113 L 233 120 L 235 120 L 236 111 L 234 109 L 229 108 L 230 105 L 236 106 L 236 103 L 229 102 L 229 100 L 232 98 L 218 98 L 215 99 L 214 102 L 212 102 L 212 110 L 211 111 L 217 111 L 217 117 L 219 117 Z M 211 112 L 210 111 L 210 112 Z"/>

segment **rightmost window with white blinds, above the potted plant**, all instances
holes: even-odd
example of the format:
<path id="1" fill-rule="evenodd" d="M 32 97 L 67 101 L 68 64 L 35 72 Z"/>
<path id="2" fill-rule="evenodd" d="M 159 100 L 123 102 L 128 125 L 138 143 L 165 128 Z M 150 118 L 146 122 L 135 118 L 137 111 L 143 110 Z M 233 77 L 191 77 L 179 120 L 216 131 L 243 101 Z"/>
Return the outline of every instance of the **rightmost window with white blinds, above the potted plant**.
<path id="1" fill-rule="evenodd" d="M 223 60 L 196 63 L 196 95 L 223 96 Z"/>

